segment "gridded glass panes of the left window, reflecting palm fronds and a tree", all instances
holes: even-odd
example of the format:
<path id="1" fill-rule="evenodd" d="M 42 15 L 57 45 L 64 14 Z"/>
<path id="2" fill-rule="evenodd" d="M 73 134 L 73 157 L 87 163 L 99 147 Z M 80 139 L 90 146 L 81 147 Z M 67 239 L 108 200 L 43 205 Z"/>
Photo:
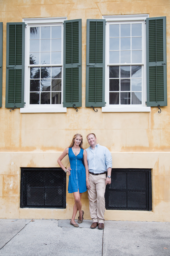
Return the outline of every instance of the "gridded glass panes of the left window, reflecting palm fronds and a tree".
<path id="1" fill-rule="evenodd" d="M 29 27 L 30 105 L 61 105 L 61 30 L 56 24 Z"/>

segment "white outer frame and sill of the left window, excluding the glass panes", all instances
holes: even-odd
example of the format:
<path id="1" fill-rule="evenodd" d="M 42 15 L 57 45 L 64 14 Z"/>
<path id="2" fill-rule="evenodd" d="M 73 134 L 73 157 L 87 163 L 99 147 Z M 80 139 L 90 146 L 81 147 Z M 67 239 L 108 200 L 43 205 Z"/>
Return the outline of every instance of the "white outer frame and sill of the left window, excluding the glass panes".
<path id="1" fill-rule="evenodd" d="M 63 22 L 67 17 L 54 18 L 24 18 L 25 22 L 25 78 L 24 78 L 24 108 L 20 108 L 20 113 L 61 113 L 67 112 L 67 108 L 63 108 Z M 30 26 L 39 25 L 54 25 L 61 24 L 61 104 L 37 104 L 37 106 L 29 104 L 29 86 L 30 86 L 30 72 L 29 72 L 29 28 Z M 35 67 L 41 65 L 35 65 Z M 46 65 L 58 66 L 58 65 Z"/>

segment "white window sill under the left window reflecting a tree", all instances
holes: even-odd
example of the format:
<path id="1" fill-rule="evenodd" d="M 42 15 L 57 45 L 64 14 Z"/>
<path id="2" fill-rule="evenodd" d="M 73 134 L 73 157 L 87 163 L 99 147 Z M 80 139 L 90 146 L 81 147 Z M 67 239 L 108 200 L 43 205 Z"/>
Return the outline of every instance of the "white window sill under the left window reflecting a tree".
<path id="1" fill-rule="evenodd" d="M 20 113 L 67 113 L 67 108 L 20 108 Z"/>

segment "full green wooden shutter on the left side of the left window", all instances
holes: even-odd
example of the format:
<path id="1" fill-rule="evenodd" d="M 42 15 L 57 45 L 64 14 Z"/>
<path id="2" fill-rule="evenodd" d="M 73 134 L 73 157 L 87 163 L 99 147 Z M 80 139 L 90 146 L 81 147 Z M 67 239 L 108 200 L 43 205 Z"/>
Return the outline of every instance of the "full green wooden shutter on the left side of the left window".
<path id="1" fill-rule="evenodd" d="M 24 107 L 25 23 L 7 23 L 6 108 Z"/>

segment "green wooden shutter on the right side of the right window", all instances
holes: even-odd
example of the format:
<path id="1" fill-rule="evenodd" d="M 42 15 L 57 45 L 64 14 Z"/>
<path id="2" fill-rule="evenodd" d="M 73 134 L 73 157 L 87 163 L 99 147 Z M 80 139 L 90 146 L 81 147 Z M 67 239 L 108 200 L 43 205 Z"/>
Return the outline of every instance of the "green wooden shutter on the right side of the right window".
<path id="1" fill-rule="evenodd" d="M 146 18 L 147 106 L 167 106 L 166 17 Z"/>

